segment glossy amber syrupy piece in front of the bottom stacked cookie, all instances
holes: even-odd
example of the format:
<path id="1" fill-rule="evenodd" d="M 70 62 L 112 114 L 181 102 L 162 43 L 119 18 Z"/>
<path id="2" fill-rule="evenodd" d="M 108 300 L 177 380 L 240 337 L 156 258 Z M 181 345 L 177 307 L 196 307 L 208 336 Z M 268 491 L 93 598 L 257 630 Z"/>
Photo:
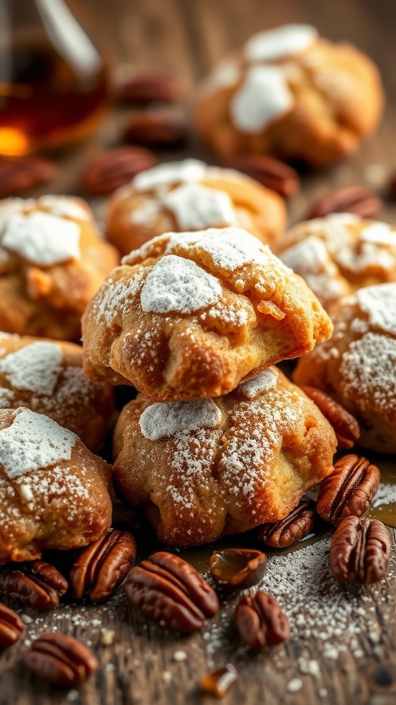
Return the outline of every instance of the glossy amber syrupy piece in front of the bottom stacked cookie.
<path id="1" fill-rule="evenodd" d="M 213 580 L 223 587 L 245 589 L 262 580 L 267 568 L 267 556 L 250 548 L 225 548 L 215 551 L 209 559 Z"/>

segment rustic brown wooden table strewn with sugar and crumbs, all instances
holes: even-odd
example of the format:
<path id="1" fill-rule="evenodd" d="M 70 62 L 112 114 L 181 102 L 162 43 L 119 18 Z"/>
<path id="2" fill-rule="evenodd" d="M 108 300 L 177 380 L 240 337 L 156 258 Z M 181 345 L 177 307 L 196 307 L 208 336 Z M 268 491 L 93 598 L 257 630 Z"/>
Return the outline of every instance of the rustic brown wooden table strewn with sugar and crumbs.
<path id="1" fill-rule="evenodd" d="M 184 80 L 191 94 L 214 61 L 260 27 L 309 22 L 326 37 L 350 39 L 381 67 L 388 94 L 386 115 L 356 157 L 304 178 L 300 194 L 290 203 L 290 220 L 338 185 L 364 183 L 382 190 L 396 169 L 396 6 L 390 1 L 84 0 L 84 7 L 93 12 L 116 63 L 170 71 Z M 96 137 L 62 158 L 53 192 L 78 192 L 82 165 L 103 145 L 117 144 L 126 116 L 113 114 Z M 193 138 L 189 149 L 171 156 L 186 154 L 215 162 Z M 106 203 L 93 200 L 92 205 L 100 218 Z M 386 202 L 381 217 L 396 223 L 396 204 Z M 385 462 L 381 465 L 385 467 Z M 250 546 L 254 539 L 245 537 L 243 542 Z M 20 665 L 25 648 L 20 644 L 0 656 L 0 705 L 194 705 L 210 701 L 199 692 L 200 680 L 224 663 L 234 663 L 239 671 L 224 705 L 394 704 L 395 560 L 378 587 L 355 589 L 332 580 L 327 553 L 328 540 L 321 539 L 269 558 L 264 589 L 271 589 L 290 615 L 292 637 L 284 646 L 257 656 L 241 647 L 236 637 L 232 625 L 236 597 L 225 598 L 219 616 L 192 637 L 170 634 L 146 622 L 127 606 L 122 591 L 106 606 L 65 606 L 39 615 L 38 620 L 36 613 L 25 610 L 25 639 L 58 628 L 91 645 L 101 668 L 78 692 L 60 691 L 34 680 Z M 189 555 L 193 560 L 205 557 Z M 113 644 L 102 643 L 103 628 L 113 630 Z"/>

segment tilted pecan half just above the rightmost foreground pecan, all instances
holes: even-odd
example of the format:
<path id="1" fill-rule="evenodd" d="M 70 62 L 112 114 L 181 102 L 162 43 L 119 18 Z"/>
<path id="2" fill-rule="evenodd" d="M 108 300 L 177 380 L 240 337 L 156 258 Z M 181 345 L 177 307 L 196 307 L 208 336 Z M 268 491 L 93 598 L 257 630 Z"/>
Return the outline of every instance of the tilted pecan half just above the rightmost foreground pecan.
<path id="1" fill-rule="evenodd" d="M 366 458 L 345 455 L 321 483 L 317 513 L 334 526 L 347 516 L 362 516 L 378 490 L 380 478 L 378 467 Z"/>

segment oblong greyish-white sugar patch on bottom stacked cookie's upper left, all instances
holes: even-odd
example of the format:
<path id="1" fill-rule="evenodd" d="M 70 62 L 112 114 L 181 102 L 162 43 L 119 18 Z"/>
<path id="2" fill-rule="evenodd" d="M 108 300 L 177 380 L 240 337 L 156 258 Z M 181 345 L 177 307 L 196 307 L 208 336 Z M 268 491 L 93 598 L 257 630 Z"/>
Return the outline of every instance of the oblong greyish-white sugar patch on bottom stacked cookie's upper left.
<path id="1" fill-rule="evenodd" d="M 213 428 L 222 420 L 222 412 L 212 399 L 151 404 L 139 419 L 143 436 L 158 441 L 185 431 Z"/>

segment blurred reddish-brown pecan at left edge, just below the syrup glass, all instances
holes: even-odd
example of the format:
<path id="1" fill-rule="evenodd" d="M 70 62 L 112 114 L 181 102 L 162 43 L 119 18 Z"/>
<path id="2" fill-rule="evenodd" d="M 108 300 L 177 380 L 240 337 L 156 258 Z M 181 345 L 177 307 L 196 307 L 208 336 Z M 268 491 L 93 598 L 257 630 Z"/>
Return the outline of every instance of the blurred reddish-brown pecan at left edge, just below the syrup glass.
<path id="1" fill-rule="evenodd" d="M 15 161 L 0 161 L 0 198 L 18 195 L 51 181 L 56 166 L 42 157 L 25 157 Z"/>

